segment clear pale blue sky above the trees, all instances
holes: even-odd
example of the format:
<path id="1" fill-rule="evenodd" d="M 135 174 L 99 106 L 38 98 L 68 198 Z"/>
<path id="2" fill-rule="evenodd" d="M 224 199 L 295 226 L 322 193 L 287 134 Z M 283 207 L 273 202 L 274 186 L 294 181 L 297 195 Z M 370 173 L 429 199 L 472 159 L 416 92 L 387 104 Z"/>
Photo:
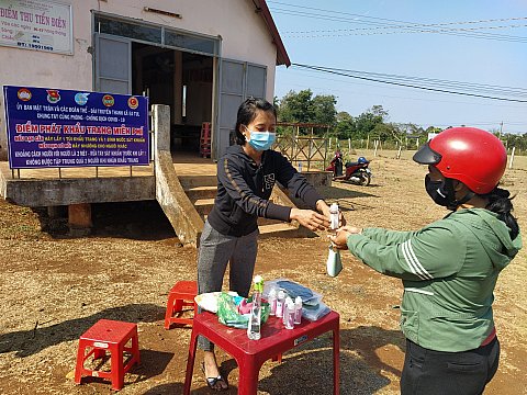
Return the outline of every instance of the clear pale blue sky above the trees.
<path id="1" fill-rule="evenodd" d="M 527 1 L 268 0 L 267 3 L 292 63 L 467 82 L 470 86 L 464 91 L 479 94 L 481 91 L 474 84 L 520 88 L 524 92 L 514 95 L 494 88 L 483 94 L 526 102 L 427 92 L 283 66 L 277 69 L 279 98 L 290 90 L 309 88 L 314 94 L 336 95 L 337 110 L 354 116 L 380 104 L 389 112 L 391 122 L 412 122 L 425 128 L 466 124 L 485 129 L 500 129 L 503 122 L 505 133 L 527 133 Z M 476 22 L 489 20 L 495 21 Z M 448 32 L 399 33 L 401 30 L 386 29 L 389 24 L 403 22 L 442 24 L 413 30 Z M 449 89 L 459 90 L 456 86 Z"/>

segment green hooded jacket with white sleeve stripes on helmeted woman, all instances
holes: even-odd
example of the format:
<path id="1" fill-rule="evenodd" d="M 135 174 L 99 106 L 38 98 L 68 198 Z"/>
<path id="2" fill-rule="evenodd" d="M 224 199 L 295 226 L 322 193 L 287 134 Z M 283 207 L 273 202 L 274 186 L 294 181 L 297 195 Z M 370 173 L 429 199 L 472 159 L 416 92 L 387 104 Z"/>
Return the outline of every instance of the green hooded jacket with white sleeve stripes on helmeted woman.
<path id="1" fill-rule="evenodd" d="M 380 273 L 403 280 L 401 328 L 436 351 L 481 346 L 494 328 L 498 273 L 522 248 L 518 235 L 484 208 L 450 213 L 417 232 L 365 228 L 350 235 L 352 255 Z"/>

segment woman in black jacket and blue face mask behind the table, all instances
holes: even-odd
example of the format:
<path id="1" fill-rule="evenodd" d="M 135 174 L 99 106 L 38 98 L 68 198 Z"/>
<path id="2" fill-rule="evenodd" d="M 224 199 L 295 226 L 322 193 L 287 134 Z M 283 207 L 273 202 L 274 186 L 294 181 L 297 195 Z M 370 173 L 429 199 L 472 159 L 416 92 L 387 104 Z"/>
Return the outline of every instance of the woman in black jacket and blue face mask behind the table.
<path id="1" fill-rule="evenodd" d="M 272 104 L 247 99 L 238 109 L 236 145 L 217 161 L 217 195 L 200 239 L 198 292 L 222 290 L 229 263 L 229 290 L 247 296 L 255 269 L 258 217 L 298 221 L 311 230 L 329 225 L 329 207 L 316 190 L 280 153 L 271 150 L 277 113 Z M 288 188 L 312 210 L 269 201 L 276 182 Z M 228 387 L 220 374 L 214 345 L 200 338 L 204 350 L 202 370 L 206 384 L 216 391 Z"/>

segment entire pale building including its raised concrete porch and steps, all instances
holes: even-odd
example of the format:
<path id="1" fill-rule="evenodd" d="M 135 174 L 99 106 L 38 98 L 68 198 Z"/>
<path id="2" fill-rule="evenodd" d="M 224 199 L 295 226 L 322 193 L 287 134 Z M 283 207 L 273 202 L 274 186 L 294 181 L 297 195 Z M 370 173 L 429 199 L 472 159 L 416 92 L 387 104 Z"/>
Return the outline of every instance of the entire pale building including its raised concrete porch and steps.
<path id="1" fill-rule="evenodd" d="M 21 176 L 5 161 L 0 95 L 0 195 L 47 206 L 49 216 L 67 206 L 72 234 L 92 226 L 93 203 L 157 200 L 180 240 L 197 245 L 216 194 L 215 177 L 195 166 L 202 124 L 212 126 L 217 158 L 234 140 L 239 104 L 272 101 L 277 65 L 290 60 L 265 0 L 0 0 L 1 86 L 145 94 L 154 131 L 148 167 Z M 178 153 L 197 176 L 176 172 Z M 271 199 L 293 205 L 278 188 Z M 280 232 L 260 226 L 261 234 Z"/>

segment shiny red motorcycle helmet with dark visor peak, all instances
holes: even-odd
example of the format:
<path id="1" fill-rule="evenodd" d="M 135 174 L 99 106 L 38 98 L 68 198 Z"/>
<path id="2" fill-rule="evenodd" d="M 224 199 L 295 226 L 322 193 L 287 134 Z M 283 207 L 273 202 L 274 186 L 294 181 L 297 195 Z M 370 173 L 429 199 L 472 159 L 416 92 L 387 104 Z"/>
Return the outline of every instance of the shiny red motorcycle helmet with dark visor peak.
<path id="1" fill-rule="evenodd" d="M 493 134 L 475 127 L 452 127 L 439 133 L 414 155 L 434 165 L 446 178 L 459 180 L 472 192 L 485 194 L 505 172 L 507 151 Z"/>

